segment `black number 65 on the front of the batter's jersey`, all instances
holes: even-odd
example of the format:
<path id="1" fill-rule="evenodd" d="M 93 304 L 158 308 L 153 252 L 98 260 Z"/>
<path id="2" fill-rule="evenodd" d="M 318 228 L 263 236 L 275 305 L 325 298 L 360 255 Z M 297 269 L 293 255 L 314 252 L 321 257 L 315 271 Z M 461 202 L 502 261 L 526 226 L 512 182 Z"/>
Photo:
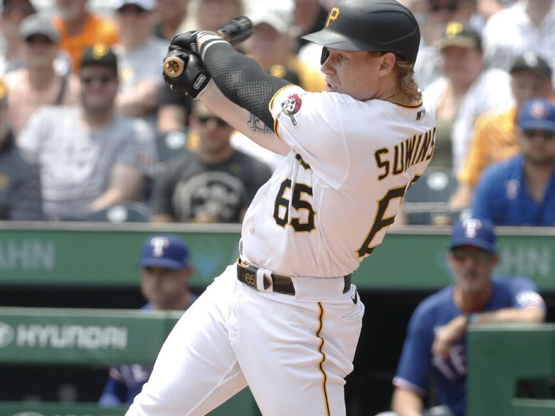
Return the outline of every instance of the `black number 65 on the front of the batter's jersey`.
<path id="1" fill-rule="evenodd" d="M 307 219 L 305 222 L 301 222 L 300 216 L 291 216 L 291 220 L 289 221 L 290 201 L 285 196 L 287 189 L 291 189 L 291 179 L 286 179 L 282 182 L 280 191 L 278 191 L 278 196 L 275 198 L 275 205 L 273 208 L 273 218 L 275 219 L 275 223 L 280 225 L 280 227 L 285 227 L 289 223 L 289 225 L 291 225 L 296 232 L 312 231 L 315 228 L 314 208 L 312 208 L 310 202 L 303 199 L 305 195 L 309 197 L 312 196 L 312 188 L 307 184 L 297 183 L 292 190 L 291 207 L 293 207 L 296 211 L 307 211 Z"/>

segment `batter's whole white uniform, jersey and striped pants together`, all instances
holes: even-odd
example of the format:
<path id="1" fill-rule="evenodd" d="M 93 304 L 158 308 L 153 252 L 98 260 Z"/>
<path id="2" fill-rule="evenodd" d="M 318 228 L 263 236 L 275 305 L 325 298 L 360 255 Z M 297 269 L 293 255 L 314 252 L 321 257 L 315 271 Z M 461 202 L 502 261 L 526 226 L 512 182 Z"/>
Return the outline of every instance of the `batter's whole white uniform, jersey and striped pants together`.
<path id="1" fill-rule="evenodd" d="M 244 219 L 241 257 L 182 316 L 128 416 L 200 416 L 248 384 L 264 416 L 345 416 L 364 304 L 340 277 L 378 245 L 434 149 L 419 105 L 355 101 L 289 86 L 271 102 L 292 151 Z M 262 270 L 262 273 L 261 273 Z M 291 276 L 294 295 L 259 287 Z M 312 277 L 330 277 L 313 279 Z"/>

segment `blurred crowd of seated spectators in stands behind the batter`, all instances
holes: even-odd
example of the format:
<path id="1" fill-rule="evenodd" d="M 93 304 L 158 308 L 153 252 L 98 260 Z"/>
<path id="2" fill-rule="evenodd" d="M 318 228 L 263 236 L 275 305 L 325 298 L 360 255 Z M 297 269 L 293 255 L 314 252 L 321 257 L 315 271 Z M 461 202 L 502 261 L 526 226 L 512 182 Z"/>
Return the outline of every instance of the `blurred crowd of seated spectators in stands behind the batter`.
<path id="1" fill-rule="evenodd" d="M 401 2 L 436 148 L 398 223 L 555 225 L 554 1 Z M 281 157 L 165 85 L 169 40 L 248 15 L 237 48 L 319 92 L 321 47 L 300 36 L 333 3 L 1 1 L 0 220 L 240 222 Z"/>

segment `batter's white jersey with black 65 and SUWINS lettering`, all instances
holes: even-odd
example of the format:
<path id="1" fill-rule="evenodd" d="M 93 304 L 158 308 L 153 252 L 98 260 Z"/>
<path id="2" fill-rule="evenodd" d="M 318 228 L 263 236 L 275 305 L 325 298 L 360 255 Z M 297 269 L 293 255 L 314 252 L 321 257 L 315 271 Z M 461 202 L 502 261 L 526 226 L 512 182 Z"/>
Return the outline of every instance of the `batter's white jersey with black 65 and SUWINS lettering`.
<path id="1" fill-rule="evenodd" d="M 382 242 L 431 159 L 434 114 L 296 85 L 270 109 L 292 151 L 246 213 L 241 256 L 280 275 L 347 275 Z"/>

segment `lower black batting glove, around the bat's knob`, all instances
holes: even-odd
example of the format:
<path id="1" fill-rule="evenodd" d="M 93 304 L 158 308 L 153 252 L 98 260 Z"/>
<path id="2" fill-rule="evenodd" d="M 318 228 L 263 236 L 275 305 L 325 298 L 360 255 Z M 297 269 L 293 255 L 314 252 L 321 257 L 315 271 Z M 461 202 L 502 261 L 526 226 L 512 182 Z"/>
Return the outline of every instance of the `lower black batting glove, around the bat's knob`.
<path id="1" fill-rule="evenodd" d="M 164 62 L 167 62 L 167 58 L 172 57 L 180 58 L 184 67 L 176 68 L 174 71 L 178 74 L 176 76 L 169 76 L 164 71 L 164 80 L 171 89 L 183 92 L 191 98 L 196 98 L 210 82 L 210 75 L 207 73 L 203 62 L 198 55 L 180 49 L 176 45 L 170 45 Z"/>

